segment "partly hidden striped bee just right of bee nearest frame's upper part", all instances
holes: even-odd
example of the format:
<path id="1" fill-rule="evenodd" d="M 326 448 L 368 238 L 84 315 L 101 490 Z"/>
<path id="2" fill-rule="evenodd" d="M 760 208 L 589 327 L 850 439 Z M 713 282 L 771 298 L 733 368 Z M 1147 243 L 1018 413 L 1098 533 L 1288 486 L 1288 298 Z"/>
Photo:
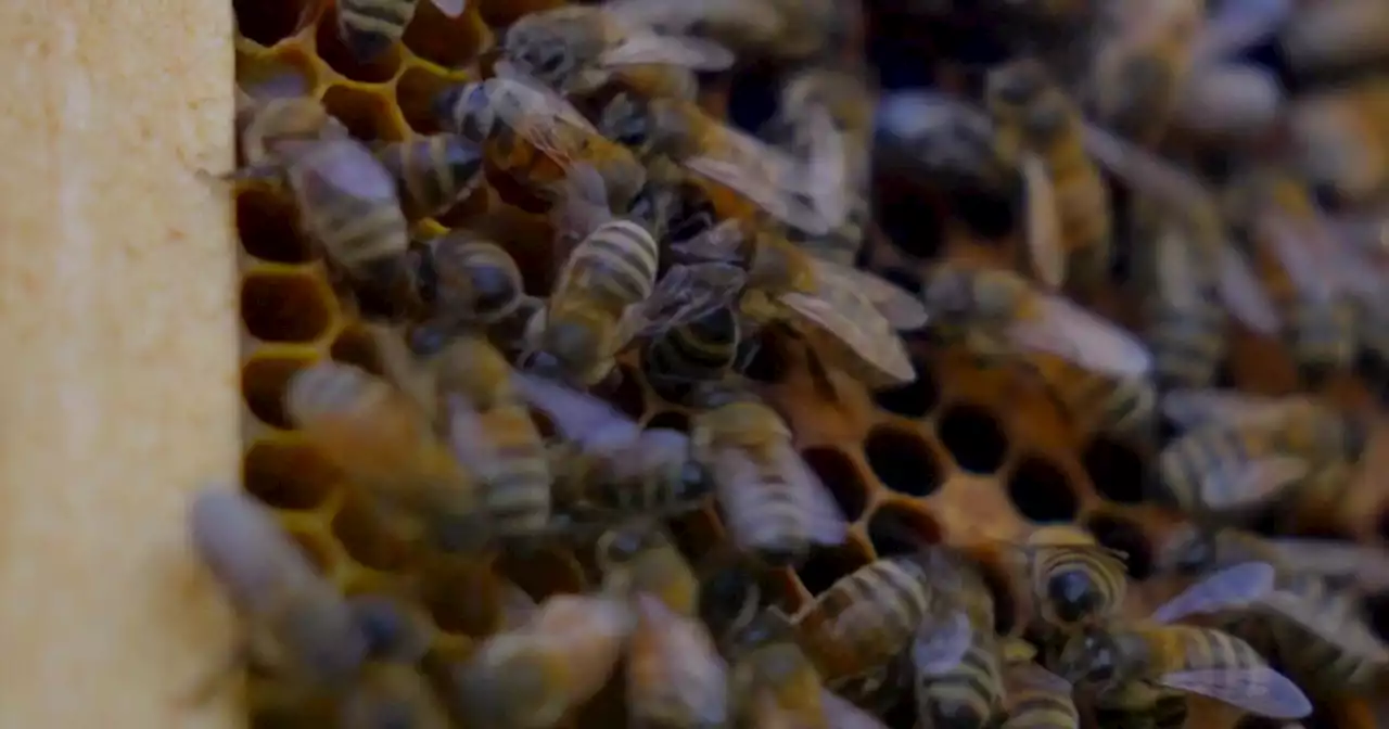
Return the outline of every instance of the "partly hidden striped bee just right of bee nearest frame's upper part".
<path id="1" fill-rule="evenodd" d="M 482 150 L 457 135 L 388 142 L 376 158 L 394 178 L 411 218 L 444 212 L 483 182 Z"/>

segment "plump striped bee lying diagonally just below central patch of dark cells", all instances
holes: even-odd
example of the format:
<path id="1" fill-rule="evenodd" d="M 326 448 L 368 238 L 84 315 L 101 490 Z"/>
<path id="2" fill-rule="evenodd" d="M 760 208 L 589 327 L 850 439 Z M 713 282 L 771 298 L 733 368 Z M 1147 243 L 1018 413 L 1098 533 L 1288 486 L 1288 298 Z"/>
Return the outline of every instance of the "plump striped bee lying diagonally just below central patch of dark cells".
<path id="1" fill-rule="evenodd" d="M 928 630 L 967 621 L 949 593 L 960 582 L 958 569 L 939 548 L 867 564 L 793 617 L 800 644 L 828 680 L 874 672 L 911 643 L 918 626 Z M 953 630 L 970 635 L 967 623 Z"/>

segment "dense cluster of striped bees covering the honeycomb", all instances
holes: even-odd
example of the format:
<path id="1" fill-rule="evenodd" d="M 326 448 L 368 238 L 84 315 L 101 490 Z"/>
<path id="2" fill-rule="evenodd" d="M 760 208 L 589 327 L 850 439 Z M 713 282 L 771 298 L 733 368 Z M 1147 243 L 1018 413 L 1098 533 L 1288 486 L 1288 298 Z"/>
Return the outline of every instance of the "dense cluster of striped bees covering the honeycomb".
<path id="1" fill-rule="evenodd" d="M 338 32 L 365 61 L 417 6 L 338 0 Z M 381 364 L 303 368 L 285 412 L 424 567 L 343 594 L 264 507 L 211 487 L 192 533 L 244 618 L 238 661 L 350 728 L 558 726 L 615 676 L 631 725 L 669 729 L 886 726 L 901 696 L 922 728 L 1075 728 L 1089 707 L 1101 725 L 1176 729 L 1188 696 L 1293 722 L 1313 698 L 1385 687 L 1389 647 L 1360 597 L 1389 589 L 1389 558 L 1245 530 L 1268 511 L 1290 532 L 1353 519 L 1372 419 L 1215 379 L 1231 317 L 1285 336 L 1308 378 L 1361 349 L 1389 360 L 1389 85 L 1364 72 L 1389 57 L 1389 6 L 985 7 L 1015 57 L 978 97 L 879 99 L 851 53 L 858 11 L 832 0 L 533 12 L 433 99 L 442 132 L 401 142 L 353 137 L 292 83 L 239 89 L 232 176 L 289 192 Z M 1270 37 L 1314 97 L 1290 103 L 1242 60 Z M 738 64 L 785 72 L 756 135 L 697 100 L 701 74 Z M 1196 172 L 1213 142 L 1235 174 Z M 920 292 L 856 267 L 875 162 L 1021 190 L 1025 255 L 924 262 Z M 547 217 L 551 240 L 528 242 L 557 262 L 544 296 L 500 217 L 428 239 L 414 225 L 497 179 Z M 1086 308 L 1120 255 L 1138 262 L 1142 335 Z M 1183 428 L 1147 486 L 1190 519 L 1158 567 L 1195 583 L 1133 619 L 1125 555 L 1049 526 L 979 544 L 989 558 L 921 544 L 776 607 L 767 575 L 845 544 L 849 523 L 745 371 L 792 337 L 813 372 L 843 375 L 825 375 L 831 394 L 903 386 L 911 330 L 1017 367 L 1086 435 Z M 692 412 L 689 432 L 643 430 L 604 401 L 619 360 Z M 708 507 L 726 544 L 692 564 L 665 521 Z M 556 544 L 592 565 L 593 590 L 535 601 L 492 572 L 500 553 Z M 1006 632 L 999 565 L 1031 605 Z M 414 605 L 479 571 L 493 635 L 463 658 L 432 651 Z"/>

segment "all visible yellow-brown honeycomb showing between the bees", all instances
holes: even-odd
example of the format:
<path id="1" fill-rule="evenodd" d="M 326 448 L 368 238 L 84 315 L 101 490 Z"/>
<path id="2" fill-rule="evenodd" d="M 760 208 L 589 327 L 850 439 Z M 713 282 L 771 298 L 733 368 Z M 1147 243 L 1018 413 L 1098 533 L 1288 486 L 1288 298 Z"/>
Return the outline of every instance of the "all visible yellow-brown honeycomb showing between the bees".
<path id="1" fill-rule="evenodd" d="M 468 79 L 493 47 L 499 28 L 525 12 L 553 7 L 553 0 L 482 0 L 447 19 L 431 3 L 408 28 L 400 47 L 360 64 L 338 40 L 335 8 L 326 0 L 235 0 L 236 72 L 253 85 L 286 69 L 364 140 L 399 140 L 432 133 L 438 126 L 431 100 L 444 85 Z M 947 83 L 917 78 L 933 57 L 956 54 L 953 28 L 920 29 L 926 43 L 910 43 L 910 24 L 870 24 L 868 49 L 886 86 Z M 920 46 L 920 47 L 918 47 Z M 926 50 L 922 50 L 925 47 Z M 925 54 L 925 61 L 922 60 Z M 885 61 L 886 58 L 886 61 Z M 917 71 L 911 71 L 917 69 Z M 893 78 L 906 74 L 911 78 Z M 761 94 L 768 78 L 747 74 L 725 85 L 711 103 L 735 118 L 749 96 Z M 761 87 L 753 87 L 761 83 Z M 729 87 L 731 86 L 731 87 Z M 756 106 L 756 101 L 751 103 Z M 743 121 L 743 119 L 736 119 Z M 878 228 L 867 262 L 885 276 L 918 286 L 924 261 L 967 257 L 1007 261 L 1017 246 L 1010 206 L 986 197 L 947 197 L 900 179 L 875 182 Z M 922 200 L 931 204 L 924 207 Z M 371 590 L 392 575 L 418 568 L 415 558 L 378 528 L 372 514 L 343 487 L 343 478 L 293 430 L 283 411 L 289 378 L 328 357 L 379 372 L 381 364 L 358 312 L 335 296 L 314 246 L 297 229 L 292 203 L 279 192 L 240 183 L 235 190 L 240 242 L 240 321 L 244 489 L 275 508 L 283 525 L 314 562 L 346 592 Z M 504 240 L 522 265 L 528 289 L 543 293 L 554 261 L 531 240 L 543 240 L 546 224 L 508 201 L 501 183 L 483 186 L 438 219 L 417 221 L 421 231 L 465 225 L 476 215 L 514 221 Z M 1125 321 L 1132 307 L 1108 296 L 1100 308 Z M 1222 368 L 1228 383 L 1260 393 L 1299 387 L 1297 375 L 1276 343 L 1233 329 L 1233 349 Z M 803 605 L 838 578 L 879 555 L 899 554 L 921 542 L 978 544 L 1025 539 L 1035 525 L 1071 522 L 1129 555 L 1139 587 L 1129 610 L 1142 615 L 1172 586 L 1149 579 L 1153 546 L 1176 523 L 1161 508 L 1145 504 L 1142 472 L 1150 451 L 1085 432 L 1070 422 L 1036 387 L 1015 372 L 979 369 L 963 353 L 911 342 L 918 379 L 888 392 L 867 392 L 843 374 L 813 372 L 799 342 L 775 342 L 747 375 L 789 421 L 796 444 L 853 519 L 847 544 L 814 551 L 796 571 L 775 579 L 774 597 L 788 608 Z M 663 401 L 624 365 L 613 401 L 646 426 L 686 428 L 685 408 Z M 1356 376 L 1325 385 L 1332 397 L 1371 403 Z M 1375 449 L 1382 450 L 1382 449 Z M 1389 514 L 1382 490 L 1367 494 L 1364 518 L 1326 525 L 1335 535 L 1382 544 Z M 717 519 L 706 512 L 674 525 L 690 557 L 720 539 Z M 539 600 L 589 583 L 583 560 L 561 551 L 503 555 L 496 572 Z M 457 594 L 475 594 L 486 575 L 460 575 Z M 999 600 L 1000 628 L 1020 619 L 1021 601 L 1001 579 L 990 580 Z M 424 605 L 438 628 L 435 647 L 464 655 L 496 629 L 496 607 L 469 607 L 456 596 L 429 596 Z M 1376 603 L 1378 604 L 1378 603 Z M 1376 614 L 1376 629 L 1389 633 L 1389 610 Z M 600 694 L 596 704 L 603 704 Z M 611 698 L 611 697 L 607 697 Z M 253 715 L 271 717 L 274 686 L 253 692 Z M 599 711 L 601 707 L 594 708 Z M 1195 705 L 1189 726 L 1228 726 L 1228 712 Z M 583 717 L 597 715 L 585 714 Z M 578 725 L 585 725 L 583 717 Z M 1247 722 L 1246 722 L 1247 723 Z M 893 723 L 910 726 L 910 723 Z M 1318 707 L 1308 726 L 1372 726 L 1360 703 Z"/>

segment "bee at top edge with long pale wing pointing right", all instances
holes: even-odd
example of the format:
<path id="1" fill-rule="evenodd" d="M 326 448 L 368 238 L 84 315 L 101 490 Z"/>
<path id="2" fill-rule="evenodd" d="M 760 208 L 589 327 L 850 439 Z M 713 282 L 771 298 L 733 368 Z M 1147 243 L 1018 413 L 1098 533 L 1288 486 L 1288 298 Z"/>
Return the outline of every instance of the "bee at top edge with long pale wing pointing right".
<path id="1" fill-rule="evenodd" d="M 711 40 L 660 33 L 606 6 L 576 6 L 532 12 L 507 28 L 497 75 L 524 74 L 572 97 L 635 72 L 657 96 L 693 99 L 694 71 L 731 65 L 733 54 Z"/>

